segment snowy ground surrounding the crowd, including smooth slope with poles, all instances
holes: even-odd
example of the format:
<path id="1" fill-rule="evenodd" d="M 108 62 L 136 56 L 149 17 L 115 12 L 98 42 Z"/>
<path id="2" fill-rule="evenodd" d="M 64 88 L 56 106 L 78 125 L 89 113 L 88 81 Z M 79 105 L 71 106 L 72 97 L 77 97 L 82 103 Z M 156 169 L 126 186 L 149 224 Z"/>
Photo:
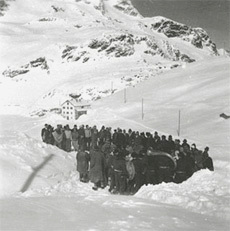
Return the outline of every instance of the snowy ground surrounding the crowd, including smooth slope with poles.
<path id="1" fill-rule="evenodd" d="M 228 61 L 210 59 L 167 72 L 161 78 L 146 80 L 127 89 L 126 103 L 123 102 L 124 92 L 118 92 L 95 102 L 91 112 L 77 122 L 98 127 L 105 124 L 139 131 L 158 130 L 176 137 L 178 104 L 183 106 L 180 138 L 196 142 L 201 149 L 210 146 L 215 172 L 197 172 L 180 185 L 143 186 L 134 197 L 113 196 L 105 190 L 92 191 L 90 184 L 78 181 L 75 153 L 67 154 L 41 143 L 43 124 L 66 124 L 61 117 L 1 115 L 4 131 L 0 142 L 1 182 L 4 183 L 1 188 L 2 228 L 17 229 L 19 225 L 22 229 L 48 227 L 55 230 L 57 227 L 72 229 L 77 225 L 79 230 L 106 230 L 104 216 L 98 214 L 92 221 L 85 221 L 99 210 L 107 214 L 107 222 L 114 230 L 152 230 L 152 227 L 156 230 L 194 230 L 194 225 L 197 230 L 228 230 L 229 121 L 219 117 L 220 112 L 229 113 Z M 180 87 L 174 90 L 178 83 Z M 144 120 L 140 116 L 139 99 L 142 97 L 148 102 L 144 106 Z M 74 123 L 70 121 L 71 126 Z M 54 155 L 52 159 L 36 172 L 36 167 L 51 154 Z M 30 182 L 31 175 L 34 176 L 31 184 L 25 184 Z M 21 193 L 24 185 L 28 187 Z M 55 207 L 55 200 L 59 200 L 60 205 Z M 16 221 L 10 224 L 10 217 L 3 214 L 7 214 L 6 211 L 12 214 L 15 205 L 23 211 L 22 216 L 16 218 L 16 210 L 13 212 Z M 35 212 L 34 205 L 41 209 Z M 84 215 L 77 208 L 82 208 Z M 33 217 L 29 211 L 33 211 Z M 49 219 L 44 220 L 47 213 Z M 147 215 L 149 213 L 152 215 Z M 54 222 L 56 216 L 60 217 L 57 223 Z M 31 222 L 33 218 L 43 222 Z M 22 224 L 21 219 L 28 222 Z"/>

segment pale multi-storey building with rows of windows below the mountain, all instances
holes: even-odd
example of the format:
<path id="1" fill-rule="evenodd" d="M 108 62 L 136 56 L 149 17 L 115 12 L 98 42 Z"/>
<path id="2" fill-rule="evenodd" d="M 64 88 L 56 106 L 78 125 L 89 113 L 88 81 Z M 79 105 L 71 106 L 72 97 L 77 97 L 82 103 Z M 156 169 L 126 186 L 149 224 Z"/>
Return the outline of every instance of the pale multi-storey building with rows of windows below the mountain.
<path id="1" fill-rule="evenodd" d="M 61 105 L 61 114 L 67 120 L 76 120 L 79 116 L 87 114 L 89 108 L 89 102 L 77 101 L 76 99 L 66 100 Z"/>

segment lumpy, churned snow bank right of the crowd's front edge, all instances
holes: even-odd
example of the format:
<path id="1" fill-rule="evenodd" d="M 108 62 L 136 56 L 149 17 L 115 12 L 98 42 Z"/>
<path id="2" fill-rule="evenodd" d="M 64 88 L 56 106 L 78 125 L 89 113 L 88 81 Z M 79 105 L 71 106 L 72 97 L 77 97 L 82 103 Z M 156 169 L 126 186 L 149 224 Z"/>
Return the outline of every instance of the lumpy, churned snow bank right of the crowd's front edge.
<path id="1" fill-rule="evenodd" d="M 177 205 L 194 212 L 230 218 L 229 183 L 230 164 L 225 164 L 224 171 L 211 172 L 201 170 L 190 179 L 181 183 L 162 183 L 143 186 L 135 197 L 152 199 L 163 203 Z"/>

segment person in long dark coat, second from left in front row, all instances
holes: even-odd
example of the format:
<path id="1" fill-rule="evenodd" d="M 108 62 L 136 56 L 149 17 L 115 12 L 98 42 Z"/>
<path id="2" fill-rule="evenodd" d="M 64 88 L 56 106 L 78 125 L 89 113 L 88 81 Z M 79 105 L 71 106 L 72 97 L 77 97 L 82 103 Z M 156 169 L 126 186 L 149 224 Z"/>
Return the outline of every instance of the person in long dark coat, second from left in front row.
<path id="1" fill-rule="evenodd" d="M 90 151 L 90 170 L 89 170 L 89 179 L 94 183 L 93 189 L 97 190 L 98 187 L 104 187 L 103 185 L 103 169 L 105 166 L 105 159 L 103 153 L 99 150 L 99 147 L 96 145 Z"/>

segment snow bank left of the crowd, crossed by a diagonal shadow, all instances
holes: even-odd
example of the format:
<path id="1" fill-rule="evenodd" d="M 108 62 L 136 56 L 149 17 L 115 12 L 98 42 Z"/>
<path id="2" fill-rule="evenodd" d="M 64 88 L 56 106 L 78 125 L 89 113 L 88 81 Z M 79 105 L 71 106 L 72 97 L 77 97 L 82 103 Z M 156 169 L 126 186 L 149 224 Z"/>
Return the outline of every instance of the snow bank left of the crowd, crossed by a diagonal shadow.
<path id="1" fill-rule="evenodd" d="M 35 140 L 25 133 L 0 136 L 0 197 L 51 187 L 75 169 L 75 154 Z"/>

